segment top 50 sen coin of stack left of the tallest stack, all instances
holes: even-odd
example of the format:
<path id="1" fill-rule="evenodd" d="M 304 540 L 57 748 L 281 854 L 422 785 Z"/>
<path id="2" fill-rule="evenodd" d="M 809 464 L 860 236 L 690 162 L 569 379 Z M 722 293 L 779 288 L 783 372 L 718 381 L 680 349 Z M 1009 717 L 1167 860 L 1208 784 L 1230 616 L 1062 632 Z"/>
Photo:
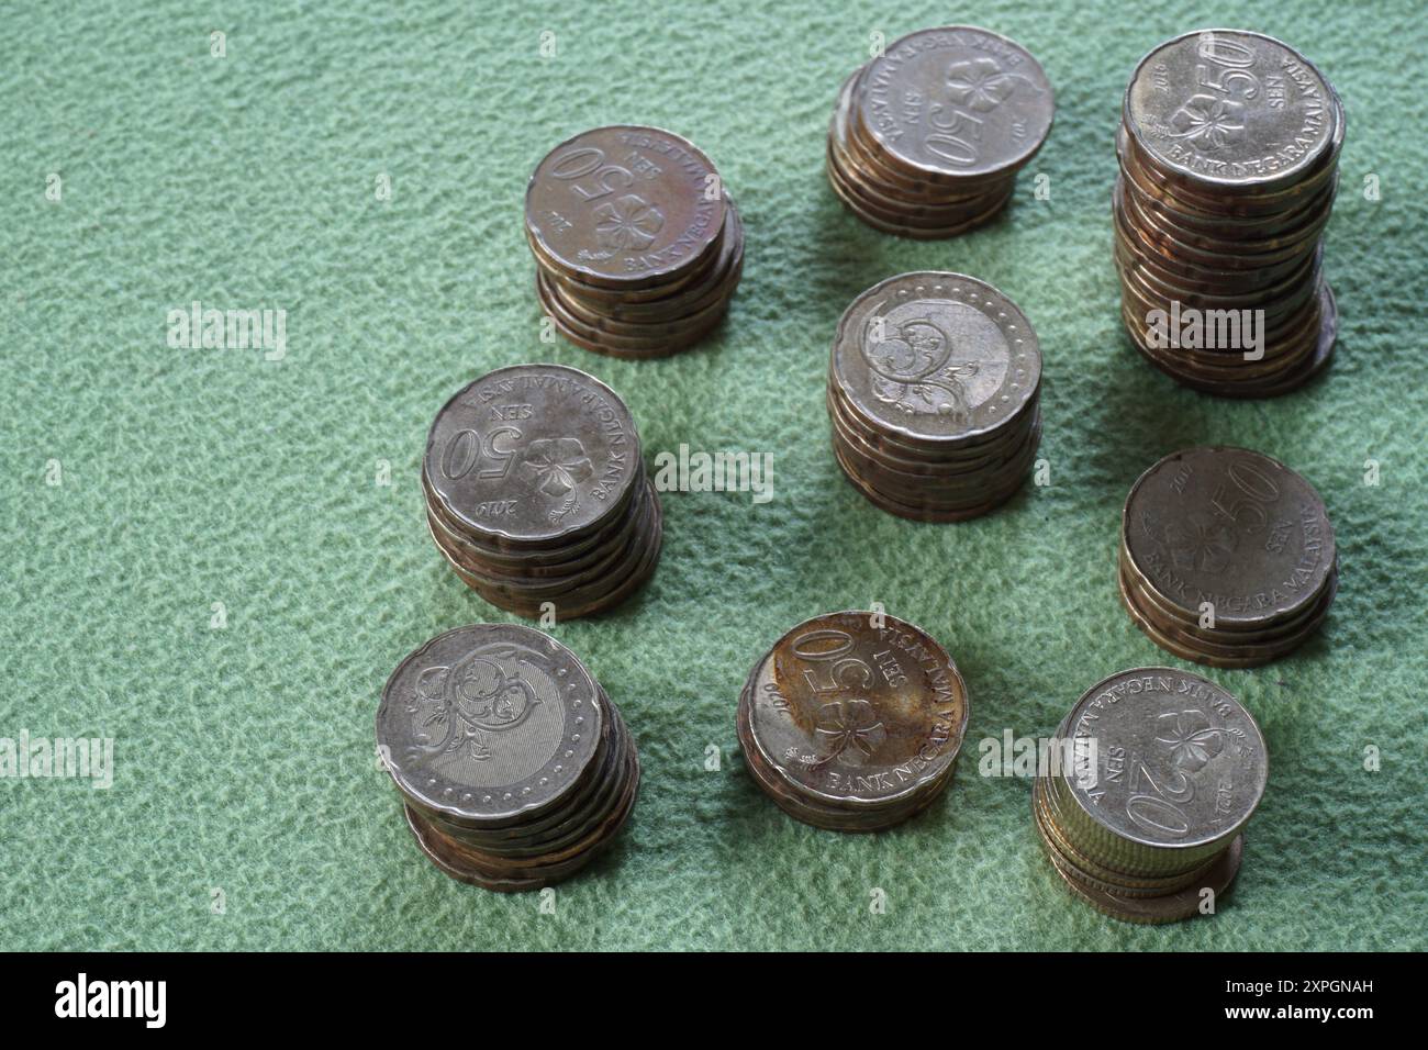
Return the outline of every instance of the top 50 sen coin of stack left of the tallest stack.
<path id="1" fill-rule="evenodd" d="M 928 179 L 1014 171 L 1045 141 L 1055 114 L 1031 53 L 972 26 L 888 44 L 860 87 L 855 119 L 890 160 Z"/>

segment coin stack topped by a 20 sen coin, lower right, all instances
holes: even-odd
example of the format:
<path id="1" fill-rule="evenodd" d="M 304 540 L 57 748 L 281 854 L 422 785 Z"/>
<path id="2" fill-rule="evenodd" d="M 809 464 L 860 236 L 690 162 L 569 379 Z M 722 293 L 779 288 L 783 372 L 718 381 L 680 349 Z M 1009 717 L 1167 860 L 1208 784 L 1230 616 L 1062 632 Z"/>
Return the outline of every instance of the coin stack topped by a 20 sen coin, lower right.
<path id="1" fill-rule="evenodd" d="M 1198 674 L 1137 667 L 1092 686 L 1052 744 L 1031 807 L 1071 891 L 1130 923 L 1212 913 L 1269 771 L 1240 701 Z"/>

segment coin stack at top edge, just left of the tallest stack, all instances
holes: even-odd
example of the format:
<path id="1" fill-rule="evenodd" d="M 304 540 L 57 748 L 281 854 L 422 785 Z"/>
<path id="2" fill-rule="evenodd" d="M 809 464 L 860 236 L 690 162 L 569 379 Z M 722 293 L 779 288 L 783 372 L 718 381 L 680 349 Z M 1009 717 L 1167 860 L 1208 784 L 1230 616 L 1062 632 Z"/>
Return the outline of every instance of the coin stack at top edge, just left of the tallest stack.
<path id="1" fill-rule="evenodd" d="M 828 126 L 833 191 L 875 230 L 932 240 L 997 216 L 1051 130 L 1051 84 L 997 33 L 910 33 L 848 77 Z"/>

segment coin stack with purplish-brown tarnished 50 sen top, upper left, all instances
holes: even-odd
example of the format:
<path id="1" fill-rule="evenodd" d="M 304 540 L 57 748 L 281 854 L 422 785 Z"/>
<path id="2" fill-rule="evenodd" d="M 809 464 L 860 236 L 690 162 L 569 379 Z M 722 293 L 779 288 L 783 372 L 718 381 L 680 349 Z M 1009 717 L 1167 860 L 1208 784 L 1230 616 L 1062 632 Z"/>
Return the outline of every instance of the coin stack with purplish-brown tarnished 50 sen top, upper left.
<path id="1" fill-rule="evenodd" d="M 613 357 L 697 343 L 744 269 L 744 226 L 714 164 L 657 127 L 597 127 L 551 150 L 526 187 L 526 240 L 551 323 Z"/>

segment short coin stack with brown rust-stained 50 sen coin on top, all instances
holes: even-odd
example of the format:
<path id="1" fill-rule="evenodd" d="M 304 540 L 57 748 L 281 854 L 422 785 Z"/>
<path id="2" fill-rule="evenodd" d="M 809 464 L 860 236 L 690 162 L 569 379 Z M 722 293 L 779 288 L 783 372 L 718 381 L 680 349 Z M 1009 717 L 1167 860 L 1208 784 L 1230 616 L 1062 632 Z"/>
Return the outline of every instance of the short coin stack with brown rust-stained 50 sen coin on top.
<path id="1" fill-rule="evenodd" d="M 921 629 L 884 613 L 830 613 L 784 634 L 738 699 L 755 783 L 790 816 L 877 831 L 920 813 L 952 779 L 967 686 Z"/>

